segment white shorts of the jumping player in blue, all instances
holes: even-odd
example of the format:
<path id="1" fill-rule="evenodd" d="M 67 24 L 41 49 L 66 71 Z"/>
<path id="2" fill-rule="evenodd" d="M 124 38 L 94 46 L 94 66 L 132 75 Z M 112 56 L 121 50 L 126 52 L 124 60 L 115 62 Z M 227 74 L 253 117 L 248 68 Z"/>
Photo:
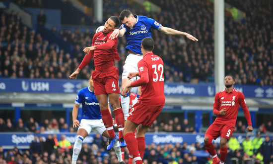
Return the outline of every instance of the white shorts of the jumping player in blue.
<path id="1" fill-rule="evenodd" d="M 137 63 L 141 59 L 143 59 L 143 56 L 137 56 L 131 53 L 126 57 L 123 66 L 122 79 L 128 79 L 127 77 L 131 72 L 138 72 Z"/>

